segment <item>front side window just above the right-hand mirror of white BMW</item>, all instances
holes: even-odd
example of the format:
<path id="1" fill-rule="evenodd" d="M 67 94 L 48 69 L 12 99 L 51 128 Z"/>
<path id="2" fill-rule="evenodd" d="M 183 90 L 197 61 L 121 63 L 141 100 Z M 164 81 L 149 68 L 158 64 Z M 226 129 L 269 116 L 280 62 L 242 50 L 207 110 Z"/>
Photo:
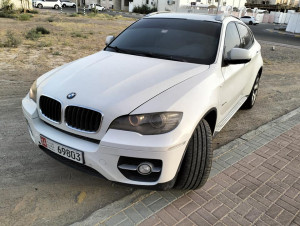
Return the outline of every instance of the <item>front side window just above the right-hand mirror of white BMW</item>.
<path id="1" fill-rule="evenodd" d="M 227 25 L 224 45 L 224 58 L 229 58 L 230 50 L 241 45 L 240 36 L 234 22 Z"/>

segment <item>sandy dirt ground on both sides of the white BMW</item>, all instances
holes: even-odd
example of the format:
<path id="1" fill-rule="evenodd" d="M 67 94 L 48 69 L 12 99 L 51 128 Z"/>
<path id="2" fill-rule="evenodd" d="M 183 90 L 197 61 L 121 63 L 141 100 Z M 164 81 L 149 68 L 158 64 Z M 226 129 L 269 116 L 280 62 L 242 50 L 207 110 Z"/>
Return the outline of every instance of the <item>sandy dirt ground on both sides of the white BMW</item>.
<path id="1" fill-rule="evenodd" d="M 101 50 L 106 35 L 117 34 L 132 22 L 52 14 L 26 22 L 0 18 L 0 40 L 12 30 L 23 41 L 18 48 L 0 48 L 1 225 L 66 225 L 133 192 L 41 152 L 29 138 L 21 110 L 21 99 L 38 76 Z M 49 29 L 50 35 L 26 40 L 25 34 L 37 25 Z M 263 46 L 265 68 L 256 106 L 239 111 L 214 139 L 214 147 L 299 107 L 300 50 L 270 48 Z"/>

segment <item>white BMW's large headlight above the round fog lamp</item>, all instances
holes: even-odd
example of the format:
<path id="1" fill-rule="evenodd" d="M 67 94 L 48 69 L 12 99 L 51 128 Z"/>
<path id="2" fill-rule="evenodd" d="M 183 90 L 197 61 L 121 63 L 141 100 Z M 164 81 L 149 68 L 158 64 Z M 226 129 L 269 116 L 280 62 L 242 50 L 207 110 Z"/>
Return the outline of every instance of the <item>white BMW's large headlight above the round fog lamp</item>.
<path id="1" fill-rule="evenodd" d="M 110 129 L 127 130 L 142 135 L 167 133 L 180 123 L 182 112 L 159 112 L 142 115 L 126 115 L 115 119 Z"/>

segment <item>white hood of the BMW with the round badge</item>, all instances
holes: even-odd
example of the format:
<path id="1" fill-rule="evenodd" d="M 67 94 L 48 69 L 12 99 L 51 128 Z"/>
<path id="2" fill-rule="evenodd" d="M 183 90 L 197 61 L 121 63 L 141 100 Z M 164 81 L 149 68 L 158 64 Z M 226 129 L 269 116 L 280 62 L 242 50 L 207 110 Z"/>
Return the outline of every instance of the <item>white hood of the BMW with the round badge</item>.
<path id="1" fill-rule="evenodd" d="M 42 76 L 38 80 L 38 95 L 116 117 L 129 114 L 154 96 L 208 68 L 209 65 L 101 51 Z M 68 100 L 71 92 L 77 95 Z"/>

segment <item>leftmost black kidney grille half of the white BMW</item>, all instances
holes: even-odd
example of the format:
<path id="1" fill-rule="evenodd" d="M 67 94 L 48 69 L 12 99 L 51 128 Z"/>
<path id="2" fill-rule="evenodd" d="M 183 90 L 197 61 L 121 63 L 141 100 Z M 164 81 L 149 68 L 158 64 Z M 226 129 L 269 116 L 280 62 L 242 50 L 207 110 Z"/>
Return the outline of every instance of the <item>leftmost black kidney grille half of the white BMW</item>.
<path id="1" fill-rule="evenodd" d="M 61 121 L 61 104 L 50 97 L 40 97 L 40 109 L 44 116 L 54 122 Z"/>

